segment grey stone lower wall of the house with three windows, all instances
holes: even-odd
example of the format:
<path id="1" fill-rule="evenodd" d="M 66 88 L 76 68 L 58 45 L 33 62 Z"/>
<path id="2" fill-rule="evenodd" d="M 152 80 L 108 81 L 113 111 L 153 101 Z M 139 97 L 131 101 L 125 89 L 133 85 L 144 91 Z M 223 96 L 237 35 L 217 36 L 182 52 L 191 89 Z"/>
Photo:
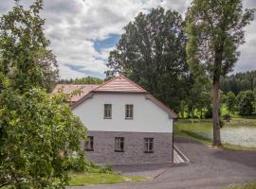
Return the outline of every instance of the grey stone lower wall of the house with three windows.
<path id="1" fill-rule="evenodd" d="M 87 131 L 94 136 L 94 151 L 86 157 L 101 164 L 172 163 L 173 134 L 161 132 Z M 115 137 L 124 137 L 124 152 L 115 152 Z M 144 152 L 144 138 L 154 138 L 154 152 Z"/>

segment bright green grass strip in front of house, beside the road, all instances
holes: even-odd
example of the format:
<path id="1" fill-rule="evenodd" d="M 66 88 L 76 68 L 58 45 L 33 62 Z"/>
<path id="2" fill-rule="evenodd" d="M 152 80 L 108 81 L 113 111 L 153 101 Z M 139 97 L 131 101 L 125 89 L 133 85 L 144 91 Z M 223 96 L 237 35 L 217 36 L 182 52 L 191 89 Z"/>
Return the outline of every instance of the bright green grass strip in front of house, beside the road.
<path id="1" fill-rule="evenodd" d="M 123 181 L 144 181 L 148 180 L 138 176 L 123 176 L 117 173 L 70 173 L 70 186 L 113 184 Z"/>

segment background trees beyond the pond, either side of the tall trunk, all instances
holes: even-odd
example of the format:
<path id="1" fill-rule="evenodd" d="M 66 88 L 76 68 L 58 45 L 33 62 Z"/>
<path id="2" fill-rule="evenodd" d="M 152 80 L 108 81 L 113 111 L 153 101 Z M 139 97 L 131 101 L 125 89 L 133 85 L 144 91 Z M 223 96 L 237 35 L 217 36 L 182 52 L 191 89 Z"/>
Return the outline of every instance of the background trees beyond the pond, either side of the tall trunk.
<path id="1" fill-rule="evenodd" d="M 237 73 L 221 79 L 219 114 L 230 117 L 231 114 L 251 115 L 256 113 L 256 71 Z M 212 117 L 211 83 L 194 82 L 187 98 L 182 100 L 180 117 Z"/>

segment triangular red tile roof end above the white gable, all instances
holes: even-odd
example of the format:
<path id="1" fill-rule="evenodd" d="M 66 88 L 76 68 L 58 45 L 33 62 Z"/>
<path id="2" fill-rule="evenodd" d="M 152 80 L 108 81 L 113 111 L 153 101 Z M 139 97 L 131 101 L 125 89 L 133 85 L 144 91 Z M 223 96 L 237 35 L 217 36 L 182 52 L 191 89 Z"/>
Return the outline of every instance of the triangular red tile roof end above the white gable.
<path id="1" fill-rule="evenodd" d="M 106 81 L 93 92 L 147 93 L 142 87 L 124 76 L 114 77 Z"/>

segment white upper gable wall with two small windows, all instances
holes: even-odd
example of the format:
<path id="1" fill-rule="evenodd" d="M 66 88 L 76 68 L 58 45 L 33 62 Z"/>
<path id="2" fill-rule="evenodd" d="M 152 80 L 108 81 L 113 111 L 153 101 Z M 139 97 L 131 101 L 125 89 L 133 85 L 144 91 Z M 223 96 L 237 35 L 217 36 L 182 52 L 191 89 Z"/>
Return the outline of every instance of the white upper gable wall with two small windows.
<path id="1" fill-rule="evenodd" d="M 104 119 L 104 104 L 112 104 L 112 119 Z M 125 119 L 125 105 L 134 105 L 134 118 Z M 173 133 L 169 113 L 146 99 L 145 94 L 96 93 L 73 109 L 91 131 Z"/>

